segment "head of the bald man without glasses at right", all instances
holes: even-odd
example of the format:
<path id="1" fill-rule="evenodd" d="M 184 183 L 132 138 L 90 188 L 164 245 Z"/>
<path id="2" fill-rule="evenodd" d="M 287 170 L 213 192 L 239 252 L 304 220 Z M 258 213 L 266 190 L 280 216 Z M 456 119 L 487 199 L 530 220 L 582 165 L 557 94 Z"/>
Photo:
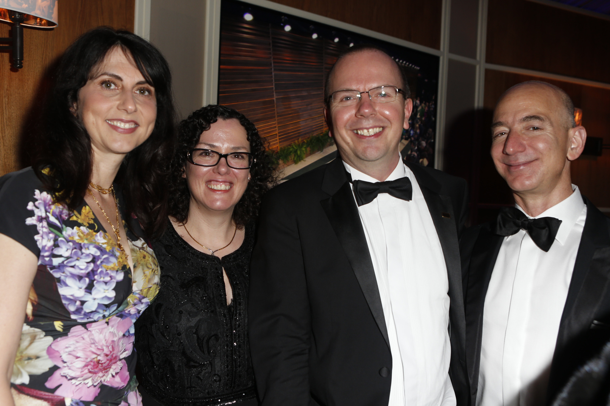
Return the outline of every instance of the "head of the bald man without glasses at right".
<path id="1" fill-rule="evenodd" d="M 567 114 L 557 91 L 535 83 L 512 89 L 498 103 L 491 155 L 515 194 L 571 193 L 570 161 L 583 152 L 586 133 L 569 128 Z"/>

